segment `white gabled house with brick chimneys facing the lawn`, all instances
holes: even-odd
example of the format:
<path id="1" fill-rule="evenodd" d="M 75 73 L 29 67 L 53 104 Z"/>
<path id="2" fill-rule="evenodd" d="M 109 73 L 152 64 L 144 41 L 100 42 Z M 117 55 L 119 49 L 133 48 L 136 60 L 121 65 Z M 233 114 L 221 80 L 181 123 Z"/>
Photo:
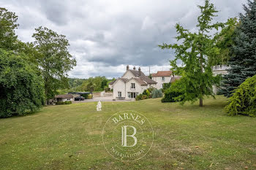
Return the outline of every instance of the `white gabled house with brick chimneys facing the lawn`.
<path id="1" fill-rule="evenodd" d="M 157 87 L 157 82 L 147 77 L 141 69 L 129 69 L 121 78 L 109 83 L 109 88 L 113 89 L 113 98 L 116 99 L 132 99 L 143 93 L 144 90 L 150 87 Z"/>

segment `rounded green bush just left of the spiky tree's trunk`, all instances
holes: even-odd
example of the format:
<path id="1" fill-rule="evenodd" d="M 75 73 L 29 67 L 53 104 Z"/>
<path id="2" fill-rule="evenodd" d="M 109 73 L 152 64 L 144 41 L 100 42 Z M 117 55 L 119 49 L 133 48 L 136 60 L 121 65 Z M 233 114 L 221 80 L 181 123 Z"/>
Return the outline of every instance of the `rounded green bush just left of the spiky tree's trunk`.
<path id="1" fill-rule="evenodd" d="M 184 84 L 181 80 L 173 82 L 173 84 L 165 90 L 165 96 L 162 98 L 162 103 L 176 102 L 184 100 Z"/>

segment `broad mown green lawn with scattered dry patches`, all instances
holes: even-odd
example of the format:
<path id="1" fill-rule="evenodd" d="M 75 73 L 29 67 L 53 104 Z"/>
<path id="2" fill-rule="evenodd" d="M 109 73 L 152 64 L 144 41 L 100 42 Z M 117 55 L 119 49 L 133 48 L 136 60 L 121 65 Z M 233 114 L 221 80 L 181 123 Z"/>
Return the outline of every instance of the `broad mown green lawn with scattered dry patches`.
<path id="1" fill-rule="evenodd" d="M 0 120 L 0 169 L 256 169 L 256 119 L 228 117 L 226 98 L 196 104 L 159 99 L 44 107 Z M 102 144 L 102 128 L 122 110 L 145 115 L 154 128 L 148 154 L 116 161 Z M 198 148 L 197 148 L 198 147 Z"/>

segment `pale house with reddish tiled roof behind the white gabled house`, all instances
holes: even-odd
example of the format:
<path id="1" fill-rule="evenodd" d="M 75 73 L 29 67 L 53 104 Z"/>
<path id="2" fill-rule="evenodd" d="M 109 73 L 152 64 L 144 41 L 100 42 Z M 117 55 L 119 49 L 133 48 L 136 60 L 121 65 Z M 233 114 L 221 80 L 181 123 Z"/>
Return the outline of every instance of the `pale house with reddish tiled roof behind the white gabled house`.
<path id="1" fill-rule="evenodd" d="M 172 71 L 158 71 L 152 74 L 152 80 L 157 82 L 157 89 L 163 88 L 165 83 L 175 82 L 180 78 L 181 77 L 174 76 Z"/>

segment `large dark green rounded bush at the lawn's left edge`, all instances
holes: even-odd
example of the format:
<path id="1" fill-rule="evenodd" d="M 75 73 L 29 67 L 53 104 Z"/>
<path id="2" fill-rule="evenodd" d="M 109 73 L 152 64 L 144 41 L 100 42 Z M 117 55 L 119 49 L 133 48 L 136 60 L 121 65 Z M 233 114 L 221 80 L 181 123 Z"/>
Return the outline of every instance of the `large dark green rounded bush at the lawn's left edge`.
<path id="1" fill-rule="evenodd" d="M 0 48 L 0 117 L 26 115 L 44 103 L 42 77 L 25 58 Z"/>

